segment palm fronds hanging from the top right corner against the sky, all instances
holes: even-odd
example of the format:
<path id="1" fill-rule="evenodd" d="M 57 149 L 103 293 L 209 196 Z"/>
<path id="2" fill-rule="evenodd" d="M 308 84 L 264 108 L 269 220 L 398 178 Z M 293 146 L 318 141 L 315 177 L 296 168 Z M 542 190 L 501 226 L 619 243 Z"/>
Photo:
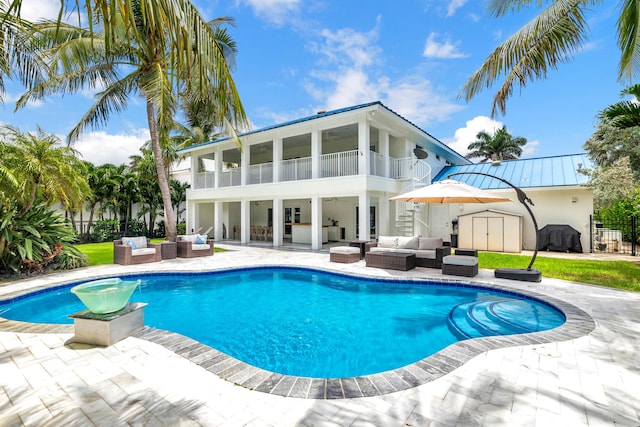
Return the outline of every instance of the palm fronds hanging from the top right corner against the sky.
<path id="1" fill-rule="evenodd" d="M 496 17 L 517 12 L 531 4 L 529 0 L 492 0 L 490 12 Z M 509 37 L 485 59 L 482 66 L 467 80 L 460 97 L 471 100 L 484 88 L 504 76 L 504 82 L 493 98 L 491 115 L 506 112 L 507 99 L 514 85 L 545 78 L 549 70 L 568 62 L 587 38 L 585 13 L 605 2 L 597 0 L 554 0 L 533 20 Z M 608 3 L 606 3 L 608 5 Z M 640 19 L 638 4 L 622 0 L 617 21 L 618 47 L 621 51 L 618 79 L 632 79 L 640 73 Z"/>

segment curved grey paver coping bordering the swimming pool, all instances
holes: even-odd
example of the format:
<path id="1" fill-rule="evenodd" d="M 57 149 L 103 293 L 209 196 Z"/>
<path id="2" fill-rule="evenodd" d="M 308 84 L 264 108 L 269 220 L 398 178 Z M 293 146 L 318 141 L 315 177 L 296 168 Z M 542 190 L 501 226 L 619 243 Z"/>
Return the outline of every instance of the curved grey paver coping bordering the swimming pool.
<path id="1" fill-rule="evenodd" d="M 282 266 L 255 266 L 261 267 L 282 267 Z M 295 267 L 308 270 L 320 270 L 313 267 Z M 246 267 L 245 267 L 246 268 Z M 191 272 L 192 274 L 219 272 L 224 270 L 234 270 L 236 268 L 203 270 Z M 327 270 L 320 270 L 327 272 Z M 335 272 L 335 271 L 334 271 Z M 168 274 L 179 274 L 175 272 Z M 338 275 L 351 277 L 362 277 L 345 272 L 335 272 Z M 149 272 L 139 274 L 128 274 L 136 276 L 140 274 L 153 274 Z M 162 274 L 162 273 L 160 273 Z M 113 275 L 105 275 L 110 277 Z M 367 276 L 368 278 L 380 279 L 379 277 Z M 398 278 L 407 280 L 407 278 Z M 385 278 L 382 280 L 394 280 Z M 410 365 L 378 374 L 366 375 L 350 378 L 309 378 L 296 377 L 266 371 L 261 368 L 249 365 L 222 353 L 212 347 L 200 343 L 192 338 L 176 332 L 144 327 L 133 336 L 139 339 L 162 345 L 175 354 L 195 363 L 216 376 L 238 386 L 263 393 L 304 398 L 304 399 L 344 399 L 371 397 L 394 393 L 411 389 L 453 372 L 458 367 L 464 365 L 475 356 L 489 350 L 526 346 L 537 344 L 548 344 L 560 341 L 568 341 L 580 338 L 591 333 L 596 323 L 593 318 L 584 310 L 563 300 L 534 292 L 531 290 L 513 289 L 495 283 L 487 283 L 482 280 L 459 280 L 444 278 L 411 278 L 416 282 L 442 282 L 450 285 L 480 286 L 500 292 L 519 294 L 525 297 L 535 298 L 546 302 L 562 311 L 565 315 L 565 323 L 561 326 L 542 332 L 533 332 L 519 335 L 504 335 L 483 338 L 473 338 L 451 344 L 439 352 L 419 360 Z M 51 288 L 69 286 L 69 283 L 57 283 Z M 26 292 L 27 294 L 32 292 Z M 0 298 L 0 301 L 3 300 Z M 0 331 L 24 332 L 24 333 L 73 333 L 73 325 L 61 324 L 39 324 L 22 321 L 14 321 L 0 317 Z"/>

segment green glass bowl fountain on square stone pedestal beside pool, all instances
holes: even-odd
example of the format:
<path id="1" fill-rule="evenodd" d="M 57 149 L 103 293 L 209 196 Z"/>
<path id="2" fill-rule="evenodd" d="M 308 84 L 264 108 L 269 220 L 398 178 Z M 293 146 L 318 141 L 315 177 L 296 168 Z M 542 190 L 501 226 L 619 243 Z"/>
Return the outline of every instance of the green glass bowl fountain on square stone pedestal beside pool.
<path id="1" fill-rule="evenodd" d="M 140 282 L 109 278 L 71 288 L 88 308 L 69 315 L 75 331 L 73 341 L 109 346 L 142 329 L 147 304 L 129 302 Z"/>

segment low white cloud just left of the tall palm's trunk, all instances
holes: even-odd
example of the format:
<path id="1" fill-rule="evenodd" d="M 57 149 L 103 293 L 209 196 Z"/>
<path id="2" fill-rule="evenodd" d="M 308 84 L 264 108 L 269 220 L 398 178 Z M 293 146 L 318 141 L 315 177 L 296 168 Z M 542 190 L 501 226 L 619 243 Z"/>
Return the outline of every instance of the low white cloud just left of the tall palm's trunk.
<path id="1" fill-rule="evenodd" d="M 129 164 L 129 156 L 140 154 L 140 147 L 149 139 L 148 129 L 135 129 L 129 134 L 117 135 L 103 131 L 91 132 L 84 134 L 73 144 L 73 148 L 82 154 L 82 160 L 94 165 L 121 165 Z"/>

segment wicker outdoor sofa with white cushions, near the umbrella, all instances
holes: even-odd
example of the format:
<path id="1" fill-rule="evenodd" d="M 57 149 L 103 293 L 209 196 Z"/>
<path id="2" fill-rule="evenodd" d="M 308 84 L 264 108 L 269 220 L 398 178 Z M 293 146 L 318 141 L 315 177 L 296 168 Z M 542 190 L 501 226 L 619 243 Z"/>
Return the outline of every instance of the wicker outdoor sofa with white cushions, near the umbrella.
<path id="1" fill-rule="evenodd" d="M 380 236 L 367 243 L 367 252 L 406 252 L 416 256 L 416 267 L 442 268 L 442 258 L 451 254 L 451 246 L 438 237 Z"/>

